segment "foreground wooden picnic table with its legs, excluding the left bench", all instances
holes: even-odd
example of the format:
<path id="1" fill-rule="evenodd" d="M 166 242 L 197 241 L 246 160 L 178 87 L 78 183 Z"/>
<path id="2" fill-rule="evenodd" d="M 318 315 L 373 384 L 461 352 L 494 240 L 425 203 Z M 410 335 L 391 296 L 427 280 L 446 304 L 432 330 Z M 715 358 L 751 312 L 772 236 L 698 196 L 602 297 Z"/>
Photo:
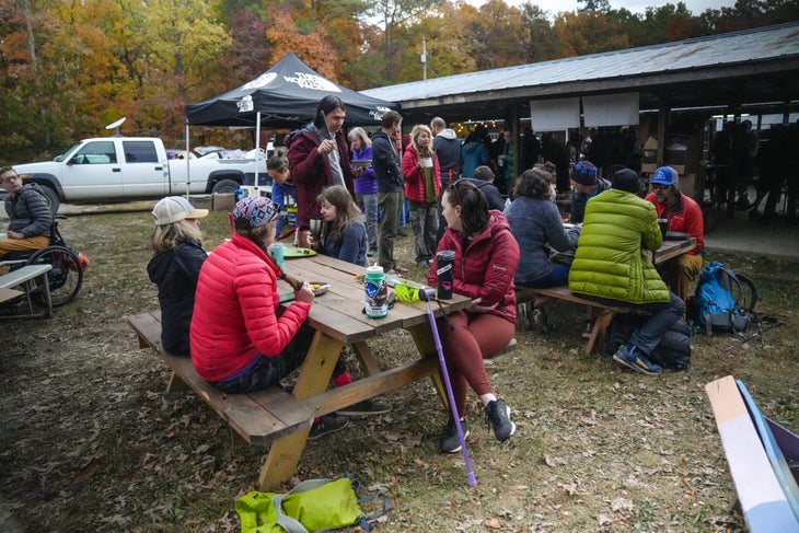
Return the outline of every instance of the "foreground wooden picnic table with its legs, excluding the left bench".
<path id="1" fill-rule="evenodd" d="M 362 399 L 432 378 L 442 401 L 445 395 L 438 375 L 438 356 L 432 339 L 427 305 L 424 302 L 396 302 L 383 318 L 369 318 L 362 313 L 363 283 L 357 278 L 366 268 L 332 257 L 315 255 L 286 260 L 287 273 L 309 282 L 329 283 L 326 293 L 317 297 L 308 322 L 316 331 L 305 361 L 293 387 L 293 395 L 315 410 L 316 416 L 341 409 Z M 280 292 L 290 292 L 280 282 Z M 471 300 L 454 294 L 441 305 L 433 305 L 436 316 L 465 309 Z M 419 358 L 396 368 L 382 369 L 367 341 L 395 329 L 410 333 Z M 328 390 L 328 384 L 341 348 L 351 345 L 366 376 L 341 387 Z M 262 490 L 276 489 L 288 482 L 297 470 L 308 442 L 310 426 L 276 440 L 262 468 Z"/>

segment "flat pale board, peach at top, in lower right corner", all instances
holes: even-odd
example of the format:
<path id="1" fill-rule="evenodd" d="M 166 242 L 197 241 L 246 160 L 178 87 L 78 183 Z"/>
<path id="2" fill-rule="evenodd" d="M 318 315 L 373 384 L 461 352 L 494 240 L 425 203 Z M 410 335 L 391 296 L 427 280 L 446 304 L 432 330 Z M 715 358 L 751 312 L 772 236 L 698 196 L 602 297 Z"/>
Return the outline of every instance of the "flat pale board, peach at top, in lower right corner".
<path id="1" fill-rule="evenodd" d="M 750 531 L 799 531 L 734 379 L 710 382 L 705 392 Z"/>

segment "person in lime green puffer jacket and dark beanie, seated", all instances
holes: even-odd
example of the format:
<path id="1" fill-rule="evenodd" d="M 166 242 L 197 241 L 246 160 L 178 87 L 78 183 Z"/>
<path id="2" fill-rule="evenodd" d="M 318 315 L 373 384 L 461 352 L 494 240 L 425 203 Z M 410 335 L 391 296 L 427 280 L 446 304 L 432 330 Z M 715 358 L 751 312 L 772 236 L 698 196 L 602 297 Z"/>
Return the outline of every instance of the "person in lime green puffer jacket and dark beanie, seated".
<path id="1" fill-rule="evenodd" d="M 647 255 L 663 244 L 663 235 L 655 206 L 636 196 L 638 173 L 621 170 L 612 183 L 586 206 L 569 289 L 611 305 L 635 303 L 650 312 L 613 359 L 638 372 L 659 374 L 661 368 L 649 356 L 685 314 L 685 303 L 660 279 Z"/>

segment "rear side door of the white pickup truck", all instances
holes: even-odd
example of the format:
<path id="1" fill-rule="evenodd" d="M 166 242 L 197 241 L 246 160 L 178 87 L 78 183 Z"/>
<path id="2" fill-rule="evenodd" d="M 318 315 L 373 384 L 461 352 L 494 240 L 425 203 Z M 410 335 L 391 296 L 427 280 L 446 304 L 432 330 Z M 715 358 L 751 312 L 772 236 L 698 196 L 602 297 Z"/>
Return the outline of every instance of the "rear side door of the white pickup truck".
<path id="1" fill-rule="evenodd" d="M 160 197 L 169 190 L 169 167 L 166 161 L 159 161 L 155 141 L 121 141 L 125 154 L 123 190 L 126 197 Z"/>

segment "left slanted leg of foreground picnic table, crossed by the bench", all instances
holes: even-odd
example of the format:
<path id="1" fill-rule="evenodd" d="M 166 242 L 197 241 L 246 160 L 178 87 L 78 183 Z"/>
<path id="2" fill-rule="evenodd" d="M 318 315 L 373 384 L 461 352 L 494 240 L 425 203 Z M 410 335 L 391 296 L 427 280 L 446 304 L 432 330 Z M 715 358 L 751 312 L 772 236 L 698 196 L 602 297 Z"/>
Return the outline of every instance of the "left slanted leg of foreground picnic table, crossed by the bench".
<path id="1" fill-rule="evenodd" d="M 294 384 L 293 395 L 297 398 L 303 399 L 327 389 L 333 368 L 336 366 L 343 347 L 341 340 L 316 332 Z M 306 429 L 278 439 L 271 444 L 266 462 L 260 470 L 258 490 L 277 490 L 280 484 L 288 482 L 294 475 L 310 432 L 311 427 L 309 426 Z"/>

